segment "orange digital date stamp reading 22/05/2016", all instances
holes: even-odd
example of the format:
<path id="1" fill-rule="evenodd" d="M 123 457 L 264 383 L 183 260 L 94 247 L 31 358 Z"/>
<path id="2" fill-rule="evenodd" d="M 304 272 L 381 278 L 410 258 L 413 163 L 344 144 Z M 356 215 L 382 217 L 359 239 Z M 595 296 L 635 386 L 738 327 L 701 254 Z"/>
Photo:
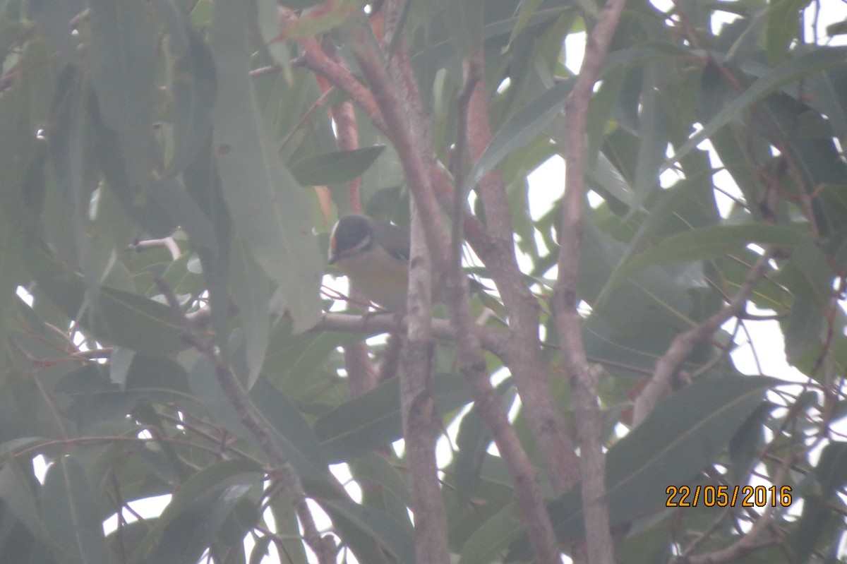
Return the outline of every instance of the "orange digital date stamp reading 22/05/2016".
<path id="1" fill-rule="evenodd" d="M 666 507 L 788 507 L 791 486 L 667 486 Z"/>

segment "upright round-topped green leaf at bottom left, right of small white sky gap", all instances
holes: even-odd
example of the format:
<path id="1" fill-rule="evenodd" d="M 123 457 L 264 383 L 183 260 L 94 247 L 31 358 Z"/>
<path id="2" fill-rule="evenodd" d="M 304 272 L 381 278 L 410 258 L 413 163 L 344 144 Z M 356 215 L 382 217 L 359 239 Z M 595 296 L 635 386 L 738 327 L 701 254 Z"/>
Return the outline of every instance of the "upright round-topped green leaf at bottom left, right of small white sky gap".
<path id="1" fill-rule="evenodd" d="M 59 564 L 113 561 L 103 537 L 97 501 L 85 470 L 73 456 L 59 456 L 44 478 L 42 523 Z"/>

